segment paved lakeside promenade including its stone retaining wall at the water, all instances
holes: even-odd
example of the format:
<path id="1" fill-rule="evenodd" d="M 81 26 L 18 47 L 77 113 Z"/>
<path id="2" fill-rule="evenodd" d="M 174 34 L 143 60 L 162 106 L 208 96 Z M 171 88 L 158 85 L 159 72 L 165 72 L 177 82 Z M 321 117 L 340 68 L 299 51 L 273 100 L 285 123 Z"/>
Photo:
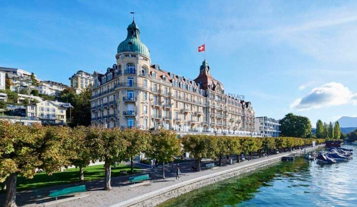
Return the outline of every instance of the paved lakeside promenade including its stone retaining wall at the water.
<path id="1" fill-rule="evenodd" d="M 323 145 L 305 148 L 308 151 L 315 150 Z M 304 149 L 303 149 L 304 150 Z M 303 150 L 294 150 L 292 153 L 298 153 Z M 223 160 L 223 166 L 217 167 L 214 170 L 203 168 L 201 172 L 191 171 L 194 162 L 179 164 L 182 176 L 180 180 L 175 181 L 176 165 L 166 165 L 166 179 L 162 179 L 162 168 L 151 169 L 143 167 L 140 174 L 149 174 L 150 182 L 144 185 L 132 187 L 133 184 L 128 183 L 128 178 L 134 175 L 126 175 L 111 178 L 112 190 L 104 191 L 104 179 L 92 180 L 80 183 L 71 183 L 66 185 L 57 185 L 47 188 L 26 190 L 17 193 L 17 204 L 21 206 L 53 206 L 53 207 L 120 207 L 120 206 L 155 206 L 166 200 L 182 195 L 191 190 L 203 187 L 205 185 L 236 176 L 241 173 L 246 173 L 260 167 L 278 162 L 283 156 L 289 155 L 289 152 L 270 155 L 269 157 L 253 157 L 250 161 L 234 163 L 228 165 L 227 160 Z M 234 156 L 235 157 L 235 156 Z M 234 158 L 233 156 L 230 158 Z M 217 161 L 203 161 L 202 167 L 207 163 Z M 136 164 L 137 167 L 141 165 Z M 59 198 L 57 203 L 54 203 L 53 198 L 49 198 L 49 191 L 57 190 L 72 186 L 86 185 L 86 197 L 72 199 L 71 197 Z M 3 201 L 3 194 L 0 195 L 0 202 Z"/>

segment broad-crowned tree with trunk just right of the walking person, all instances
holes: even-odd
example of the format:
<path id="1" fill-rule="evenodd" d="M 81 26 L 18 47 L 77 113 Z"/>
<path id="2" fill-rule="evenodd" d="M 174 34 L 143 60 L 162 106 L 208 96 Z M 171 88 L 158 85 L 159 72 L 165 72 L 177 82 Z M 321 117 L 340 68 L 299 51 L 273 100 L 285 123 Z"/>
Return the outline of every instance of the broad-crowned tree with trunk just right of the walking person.
<path id="1" fill-rule="evenodd" d="M 183 149 L 195 158 L 197 171 L 201 171 L 202 158 L 215 158 L 216 146 L 213 138 L 205 135 L 186 135 L 182 138 L 182 144 Z"/>

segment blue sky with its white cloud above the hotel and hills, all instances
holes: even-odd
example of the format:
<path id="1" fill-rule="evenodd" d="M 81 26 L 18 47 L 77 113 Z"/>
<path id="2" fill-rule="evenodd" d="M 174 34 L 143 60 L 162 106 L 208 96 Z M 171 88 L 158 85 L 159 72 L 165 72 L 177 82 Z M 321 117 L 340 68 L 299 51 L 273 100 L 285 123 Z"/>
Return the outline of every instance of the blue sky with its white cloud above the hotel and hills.
<path id="1" fill-rule="evenodd" d="M 153 64 L 195 78 L 204 54 L 256 116 L 357 116 L 355 1 L 16 1 L 0 4 L 0 66 L 70 84 L 115 63 L 135 10 Z"/>

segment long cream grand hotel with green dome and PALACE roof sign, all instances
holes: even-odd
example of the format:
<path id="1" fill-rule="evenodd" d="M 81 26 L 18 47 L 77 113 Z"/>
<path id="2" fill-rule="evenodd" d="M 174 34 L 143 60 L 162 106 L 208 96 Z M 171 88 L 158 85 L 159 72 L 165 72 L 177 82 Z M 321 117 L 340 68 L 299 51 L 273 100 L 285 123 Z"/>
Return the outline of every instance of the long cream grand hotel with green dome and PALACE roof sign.
<path id="1" fill-rule="evenodd" d="M 93 74 L 92 126 L 256 135 L 251 103 L 228 96 L 206 61 L 193 80 L 165 71 L 151 64 L 134 20 L 127 31 L 116 64 Z"/>

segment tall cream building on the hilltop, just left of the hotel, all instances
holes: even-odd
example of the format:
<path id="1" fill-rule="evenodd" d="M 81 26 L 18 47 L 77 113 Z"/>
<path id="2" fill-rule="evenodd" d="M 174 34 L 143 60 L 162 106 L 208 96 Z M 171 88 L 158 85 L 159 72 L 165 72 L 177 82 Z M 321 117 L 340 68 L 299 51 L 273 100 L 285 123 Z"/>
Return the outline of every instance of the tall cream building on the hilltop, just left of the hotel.
<path id="1" fill-rule="evenodd" d="M 69 80 L 71 80 L 71 88 L 77 94 L 80 94 L 89 84 L 93 85 L 93 75 L 83 70 L 78 70 Z"/>

